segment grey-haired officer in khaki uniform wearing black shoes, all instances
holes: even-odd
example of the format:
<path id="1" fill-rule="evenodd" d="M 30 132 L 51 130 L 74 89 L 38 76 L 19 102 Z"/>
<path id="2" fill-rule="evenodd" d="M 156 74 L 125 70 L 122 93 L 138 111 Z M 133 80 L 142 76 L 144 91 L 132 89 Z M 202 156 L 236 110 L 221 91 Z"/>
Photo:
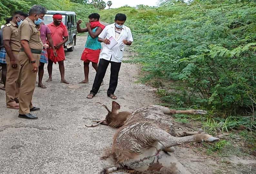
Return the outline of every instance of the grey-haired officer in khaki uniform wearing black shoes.
<path id="1" fill-rule="evenodd" d="M 19 95 L 19 117 L 26 119 L 37 119 L 31 111 L 40 110 L 33 107 L 32 96 L 34 93 L 36 74 L 40 61 L 40 55 L 43 50 L 43 43 L 40 38 L 40 31 L 36 25 L 39 25 L 43 19 L 46 10 L 41 5 L 33 5 L 29 10 L 28 17 L 22 22 L 18 29 L 20 37 L 20 52 L 18 60 L 21 65 L 21 87 Z"/>

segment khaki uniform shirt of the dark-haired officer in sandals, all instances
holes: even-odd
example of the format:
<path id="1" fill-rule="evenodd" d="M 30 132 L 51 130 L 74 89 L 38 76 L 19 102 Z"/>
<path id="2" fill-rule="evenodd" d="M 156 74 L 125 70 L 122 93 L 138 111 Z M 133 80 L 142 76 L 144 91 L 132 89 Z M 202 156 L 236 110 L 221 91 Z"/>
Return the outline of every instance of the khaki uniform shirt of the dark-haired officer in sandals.
<path id="1" fill-rule="evenodd" d="M 18 26 L 10 21 L 3 29 L 3 40 L 10 40 L 10 47 L 13 51 L 20 50 L 20 42 L 18 37 Z"/>

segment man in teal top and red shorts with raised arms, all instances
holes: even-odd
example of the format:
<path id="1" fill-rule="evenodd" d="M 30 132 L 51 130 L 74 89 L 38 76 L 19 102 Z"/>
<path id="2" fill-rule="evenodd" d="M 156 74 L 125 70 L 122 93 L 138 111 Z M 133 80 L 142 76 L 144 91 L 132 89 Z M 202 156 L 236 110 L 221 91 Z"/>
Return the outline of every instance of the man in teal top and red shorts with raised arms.
<path id="1" fill-rule="evenodd" d="M 81 56 L 81 60 L 84 61 L 84 80 L 79 83 L 89 83 L 89 63 L 92 62 L 93 68 L 97 72 L 99 56 L 101 52 L 101 43 L 98 41 L 98 36 L 105 28 L 99 22 L 100 15 L 98 13 L 92 13 L 88 16 L 89 23 L 86 23 L 86 28 L 81 29 L 81 20 L 77 22 L 77 32 L 88 32 L 87 41 L 84 51 Z"/>

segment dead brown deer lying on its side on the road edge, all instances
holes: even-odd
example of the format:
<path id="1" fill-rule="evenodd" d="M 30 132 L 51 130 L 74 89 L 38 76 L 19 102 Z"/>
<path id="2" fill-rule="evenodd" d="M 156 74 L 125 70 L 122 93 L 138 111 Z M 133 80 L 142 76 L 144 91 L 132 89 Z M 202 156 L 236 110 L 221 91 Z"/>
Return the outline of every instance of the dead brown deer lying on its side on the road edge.
<path id="1" fill-rule="evenodd" d="M 107 109 L 107 107 L 104 105 Z M 118 169 L 139 173 L 174 174 L 176 167 L 162 166 L 155 159 L 159 159 L 159 151 L 173 152 L 170 148 L 191 142 L 218 140 L 208 134 L 199 132 L 175 132 L 172 128 L 170 116 L 165 114 L 205 114 L 203 110 L 172 110 L 163 106 L 150 105 L 131 112 L 119 112 L 120 105 L 112 102 L 112 111 L 108 110 L 105 124 L 120 127 L 113 137 L 112 152 L 116 167 L 103 170 L 106 174 Z M 190 136 L 187 136 L 190 135 Z M 184 136 L 184 137 L 182 137 Z M 148 161 L 151 161 L 148 163 Z M 145 171 L 138 171 L 140 167 L 149 166 Z"/>

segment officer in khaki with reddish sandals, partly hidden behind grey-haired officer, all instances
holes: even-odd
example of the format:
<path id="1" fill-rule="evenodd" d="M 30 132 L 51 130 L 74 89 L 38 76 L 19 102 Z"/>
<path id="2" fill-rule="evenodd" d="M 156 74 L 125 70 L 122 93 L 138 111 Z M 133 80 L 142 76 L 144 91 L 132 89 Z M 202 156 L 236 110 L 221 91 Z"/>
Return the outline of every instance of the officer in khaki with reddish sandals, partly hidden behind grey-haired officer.
<path id="1" fill-rule="evenodd" d="M 19 109 L 18 95 L 20 88 L 20 65 L 18 63 L 18 53 L 20 42 L 18 39 L 18 26 L 27 17 L 27 14 L 17 11 L 13 14 L 10 23 L 6 24 L 3 29 L 4 47 L 6 50 L 6 106 L 7 108 Z"/>

